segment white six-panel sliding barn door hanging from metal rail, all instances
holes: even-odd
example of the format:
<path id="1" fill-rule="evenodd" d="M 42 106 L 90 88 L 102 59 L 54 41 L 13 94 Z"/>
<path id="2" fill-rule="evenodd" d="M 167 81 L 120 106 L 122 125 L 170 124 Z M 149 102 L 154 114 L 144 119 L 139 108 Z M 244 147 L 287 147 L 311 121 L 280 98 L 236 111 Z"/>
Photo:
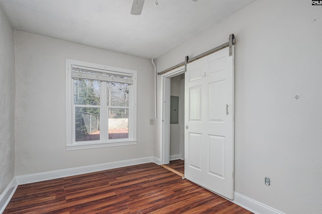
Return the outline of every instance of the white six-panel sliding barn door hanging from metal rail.
<path id="1" fill-rule="evenodd" d="M 228 49 L 187 65 L 185 177 L 233 199 L 234 55 Z"/>

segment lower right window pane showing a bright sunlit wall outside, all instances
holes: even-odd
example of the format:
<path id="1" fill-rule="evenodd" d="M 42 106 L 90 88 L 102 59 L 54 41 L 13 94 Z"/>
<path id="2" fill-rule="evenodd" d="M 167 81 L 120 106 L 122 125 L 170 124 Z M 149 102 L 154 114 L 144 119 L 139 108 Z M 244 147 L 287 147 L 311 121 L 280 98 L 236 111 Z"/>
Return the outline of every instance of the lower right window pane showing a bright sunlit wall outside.
<path id="1" fill-rule="evenodd" d="M 129 137 L 129 110 L 109 109 L 109 139 Z"/>

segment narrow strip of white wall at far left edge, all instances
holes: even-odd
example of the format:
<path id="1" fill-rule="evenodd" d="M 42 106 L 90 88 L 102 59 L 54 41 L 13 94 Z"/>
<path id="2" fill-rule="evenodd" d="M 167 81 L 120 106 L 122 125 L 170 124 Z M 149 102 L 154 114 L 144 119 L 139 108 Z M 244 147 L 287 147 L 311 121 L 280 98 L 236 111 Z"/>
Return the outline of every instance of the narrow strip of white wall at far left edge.
<path id="1" fill-rule="evenodd" d="M 15 172 L 14 33 L 0 8 L 0 195 Z"/>

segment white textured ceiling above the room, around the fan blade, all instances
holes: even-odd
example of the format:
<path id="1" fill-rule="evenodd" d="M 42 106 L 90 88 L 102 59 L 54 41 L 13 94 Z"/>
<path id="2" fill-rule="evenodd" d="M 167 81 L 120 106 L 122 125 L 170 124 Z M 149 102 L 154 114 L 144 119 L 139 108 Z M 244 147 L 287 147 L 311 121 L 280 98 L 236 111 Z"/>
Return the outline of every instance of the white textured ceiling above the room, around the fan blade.
<path id="1" fill-rule="evenodd" d="M 136 1 L 136 0 L 134 0 Z M 254 0 L 0 0 L 16 30 L 157 58 Z"/>

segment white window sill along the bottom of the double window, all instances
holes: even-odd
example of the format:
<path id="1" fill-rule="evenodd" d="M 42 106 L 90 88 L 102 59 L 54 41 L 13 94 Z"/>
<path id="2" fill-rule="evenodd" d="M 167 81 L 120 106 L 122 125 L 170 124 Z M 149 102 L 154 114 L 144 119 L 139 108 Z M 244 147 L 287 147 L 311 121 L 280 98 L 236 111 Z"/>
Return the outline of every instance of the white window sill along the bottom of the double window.
<path id="1" fill-rule="evenodd" d="M 104 147 L 113 147 L 113 146 L 128 146 L 128 145 L 136 145 L 136 140 L 118 141 L 118 142 L 109 142 L 109 143 L 95 143 L 95 144 L 94 143 L 93 144 L 74 143 L 73 145 L 67 145 L 66 151 L 104 148 Z"/>

